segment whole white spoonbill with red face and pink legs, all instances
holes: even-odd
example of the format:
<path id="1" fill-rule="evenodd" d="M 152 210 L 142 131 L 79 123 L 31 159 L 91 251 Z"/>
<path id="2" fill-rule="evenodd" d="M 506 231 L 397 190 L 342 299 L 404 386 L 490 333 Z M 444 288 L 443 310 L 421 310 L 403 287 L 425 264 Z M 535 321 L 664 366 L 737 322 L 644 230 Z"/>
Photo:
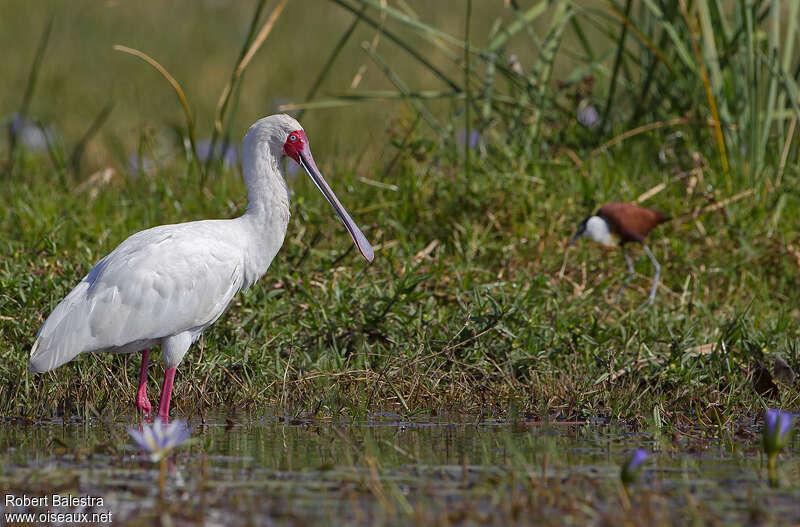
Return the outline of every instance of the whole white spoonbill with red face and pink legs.
<path id="1" fill-rule="evenodd" d="M 162 225 L 123 241 L 47 317 L 29 370 L 50 371 L 81 353 L 142 351 L 136 407 L 149 414 L 147 365 L 150 348 L 160 345 L 165 373 L 158 415 L 166 419 L 186 351 L 240 289 L 267 271 L 283 244 L 289 223 L 284 156 L 308 173 L 371 262 L 372 247 L 319 172 L 303 128 L 288 115 L 265 117 L 242 143 L 247 211 L 230 220 Z"/>

